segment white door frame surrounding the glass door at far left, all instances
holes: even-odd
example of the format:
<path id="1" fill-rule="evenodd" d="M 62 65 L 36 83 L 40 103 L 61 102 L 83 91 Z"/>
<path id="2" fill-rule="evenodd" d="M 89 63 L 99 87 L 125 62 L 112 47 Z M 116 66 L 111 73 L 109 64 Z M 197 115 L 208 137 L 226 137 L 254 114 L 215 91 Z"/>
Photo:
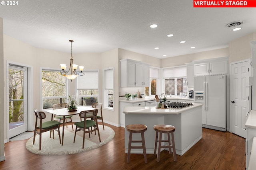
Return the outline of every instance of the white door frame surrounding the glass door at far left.
<path id="1" fill-rule="evenodd" d="M 23 63 L 17 63 L 13 61 L 6 61 L 6 137 L 7 139 L 4 139 L 4 143 L 7 143 L 10 141 L 9 139 L 9 91 L 8 91 L 8 86 L 9 86 L 9 64 L 11 65 L 17 65 L 17 66 L 23 66 L 27 67 L 27 73 L 28 73 L 28 131 L 33 131 L 34 130 L 34 125 L 33 125 L 33 117 L 34 117 L 34 111 L 32 110 L 33 106 L 33 67 L 31 65 L 23 64 Z"/>

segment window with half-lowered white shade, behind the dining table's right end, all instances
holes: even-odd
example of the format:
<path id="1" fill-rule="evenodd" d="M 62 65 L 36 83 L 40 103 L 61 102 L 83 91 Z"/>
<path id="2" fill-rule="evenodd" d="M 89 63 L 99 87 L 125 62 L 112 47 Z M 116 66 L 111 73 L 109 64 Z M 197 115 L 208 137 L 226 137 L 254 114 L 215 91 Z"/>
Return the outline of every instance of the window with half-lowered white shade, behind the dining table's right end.
<path id="1" fill-rule="evenodd" d="M 99 71 L 85 70 L 84 76 L 77 77 L 78 103 L 81 106 L 92 106 L 99 98 Z"/>

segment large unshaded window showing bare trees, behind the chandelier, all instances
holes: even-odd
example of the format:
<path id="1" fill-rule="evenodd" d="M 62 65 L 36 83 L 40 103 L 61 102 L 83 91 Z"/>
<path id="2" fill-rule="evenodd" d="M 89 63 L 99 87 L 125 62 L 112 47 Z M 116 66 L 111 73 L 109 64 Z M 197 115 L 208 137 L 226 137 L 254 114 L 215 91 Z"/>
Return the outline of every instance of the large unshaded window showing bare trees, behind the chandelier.
<path id="1" fill-rule="evenodd" d="M 52 109 L 53 104 L 65 103 L 66 77 L 57 70 L 42 69 L 42 109 Z"/>

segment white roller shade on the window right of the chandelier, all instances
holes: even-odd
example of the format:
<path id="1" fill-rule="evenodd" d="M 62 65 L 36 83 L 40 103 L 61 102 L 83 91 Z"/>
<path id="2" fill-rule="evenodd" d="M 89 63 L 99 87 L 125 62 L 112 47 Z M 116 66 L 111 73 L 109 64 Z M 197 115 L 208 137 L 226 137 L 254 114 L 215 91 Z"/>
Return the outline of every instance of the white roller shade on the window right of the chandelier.
<path id="1" fill-rule="evenodd" d="M 84 76 L 77 77 L 77 89 L 98 89 L 98 71 L 84 71 Z"/>

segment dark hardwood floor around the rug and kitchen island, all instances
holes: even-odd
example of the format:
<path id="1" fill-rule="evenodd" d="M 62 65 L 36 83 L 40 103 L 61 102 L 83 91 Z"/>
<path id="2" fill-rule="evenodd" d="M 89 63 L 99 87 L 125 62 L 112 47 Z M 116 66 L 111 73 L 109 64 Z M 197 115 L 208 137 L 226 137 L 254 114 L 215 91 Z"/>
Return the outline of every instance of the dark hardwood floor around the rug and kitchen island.
<path id="1" fill-rule="evenodd" d="M 177 155 L 177 162 L 168 151 L 156 155 L 131 154 L 126 163 L 124 153 L 124 128 L 111 127 L 115 137 L 106 145 L 79 154 L 63 156 L 41 156 L 29 152 L 27 140 L 5 144 L 5 161 L 0 162 L 1 170 L 245 170 L 245 139 L 229 132 L 202 128 L 202 139 L 183 156 Z"/>

